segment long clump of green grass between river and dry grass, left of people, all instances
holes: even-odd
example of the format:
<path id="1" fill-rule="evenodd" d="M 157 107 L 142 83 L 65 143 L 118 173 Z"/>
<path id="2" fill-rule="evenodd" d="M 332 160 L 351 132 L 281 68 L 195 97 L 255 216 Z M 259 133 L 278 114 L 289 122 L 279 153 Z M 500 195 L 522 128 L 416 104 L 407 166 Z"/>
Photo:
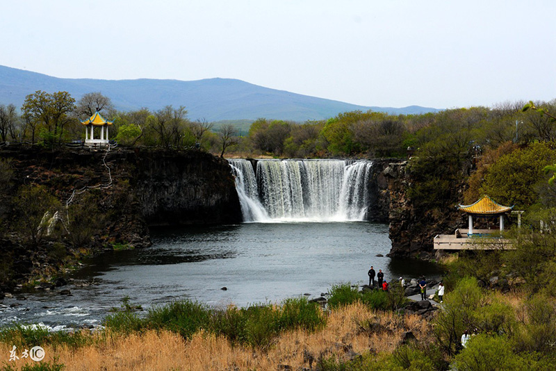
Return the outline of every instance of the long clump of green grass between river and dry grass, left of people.
<path id="1" fill-rule="evenodd" d="M 280 306 L 229 306 L 225 310 L 184 299 L 150 308 L 144 318 L 133 311 L 121 311 L 104 320 L 107 329 L 118 333 L 156 329 L 191 338 L 203 329 L 226 336 L 231 343 L 252 347 L 268 347 L 282 331 L 297 328 L 314 331 L 324 324 L 325 315 L 318 304 L 305 298 L 286 299 Z"/>

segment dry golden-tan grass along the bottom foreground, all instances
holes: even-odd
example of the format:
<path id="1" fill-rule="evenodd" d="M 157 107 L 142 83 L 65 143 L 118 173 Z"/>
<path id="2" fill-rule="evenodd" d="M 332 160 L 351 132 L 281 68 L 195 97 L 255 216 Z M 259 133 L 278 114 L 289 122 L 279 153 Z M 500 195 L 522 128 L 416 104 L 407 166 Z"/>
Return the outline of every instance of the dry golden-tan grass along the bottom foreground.
<path id="1" fill-rule="evenodd" d="M 227 338 L 197 331 L 190 340 L 170 331 L 123 335 L 108 331 L 90 335 L 90 345 L 71 348 L 44 344 L 44 361 L 61 363 L 64 370 L 292 370 L 314 369 L 320 358 L 347 359 L 358 354 L 390 353 L 404 331 L 417 340 L 427 338 L 430 325 L 416 315 L 398 316 L 373 311 L 363 304 L 335 309 L 327 324 L 314 332 L 295 329 L 280 333 L 267 349 L 231 345 Z M 0 345 L 0 364 L 11 346 Z M 8 362 L 7 362 L 8 363 Z M 29 358 L 9 364 L 19 369 Z M 287 368 L 285 368 L 287 369 Z"/>

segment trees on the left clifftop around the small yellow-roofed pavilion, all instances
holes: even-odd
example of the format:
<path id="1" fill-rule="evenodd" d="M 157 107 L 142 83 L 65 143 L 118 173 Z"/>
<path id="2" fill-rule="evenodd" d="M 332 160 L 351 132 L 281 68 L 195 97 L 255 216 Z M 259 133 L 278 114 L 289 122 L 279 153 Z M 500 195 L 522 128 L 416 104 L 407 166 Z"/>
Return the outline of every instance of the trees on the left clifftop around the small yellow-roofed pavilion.
<path id="1" fill-rule="evenodd" d="M 0 104 L 0 142 L 28 141 L 56 147 L 72 140 L 83 140 L 85 131 L 80 120 L 101 113 L 112 119 L 111 139 L 121 145 L 164 148 L 197 147 L 216 154 L 236 145 L 233 125 L 220 126 L 206 120 L 191 121 L 185 106 L 165 106 L 159 110 L 116 110 L 111 99 L 100 92 L 84 94 L 76 101 L 68 92 L 28 94 L 21 108 Z"/>

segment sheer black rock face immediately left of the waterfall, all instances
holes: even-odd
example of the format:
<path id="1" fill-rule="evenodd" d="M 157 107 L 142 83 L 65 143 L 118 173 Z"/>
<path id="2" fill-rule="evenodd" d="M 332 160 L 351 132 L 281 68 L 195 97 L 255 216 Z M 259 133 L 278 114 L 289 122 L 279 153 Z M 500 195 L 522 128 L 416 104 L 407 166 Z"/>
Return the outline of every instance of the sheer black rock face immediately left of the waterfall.
<path id="1" fill-rule="evenodd" d="M 200 151 L 138 151 L 133 165 L 130 183 L 149 225 L 241 222 L 226 160 Z"/>

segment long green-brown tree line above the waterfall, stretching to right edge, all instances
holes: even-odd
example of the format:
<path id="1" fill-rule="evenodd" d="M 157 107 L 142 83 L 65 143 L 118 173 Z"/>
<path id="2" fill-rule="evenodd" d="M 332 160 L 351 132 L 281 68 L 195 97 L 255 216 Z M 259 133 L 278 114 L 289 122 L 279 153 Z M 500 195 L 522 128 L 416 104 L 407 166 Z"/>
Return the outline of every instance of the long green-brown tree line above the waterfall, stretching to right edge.
<path id="1" fill-rule="evenodd" d="M 408 148 L 410 154 L 423 147 L 459 154 L 473 148 L 498 147 L 507 141 L 523 145 L 556 140 L 550 117 L 522 112 L 524 104 L 506 102 L 493 108 L 454 108 L 420 115 L 357 110 L 303 124 L 261 118 L 253 122 L 236 151 L 295 158 L 378 158 L 407 156 Z M 554 110 L 556 101 L 537 105 Z"/>

